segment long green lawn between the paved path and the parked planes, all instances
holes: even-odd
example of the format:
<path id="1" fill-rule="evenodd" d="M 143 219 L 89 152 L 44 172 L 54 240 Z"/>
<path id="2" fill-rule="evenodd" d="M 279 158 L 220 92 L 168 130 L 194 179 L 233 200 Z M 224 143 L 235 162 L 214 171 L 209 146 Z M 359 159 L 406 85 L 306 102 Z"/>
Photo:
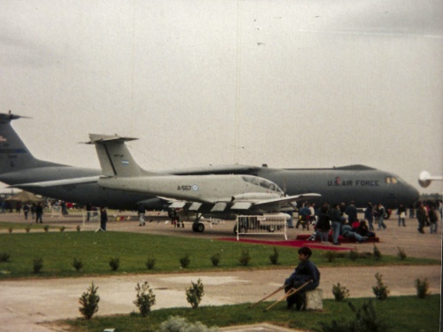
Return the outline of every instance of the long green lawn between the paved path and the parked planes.
<path id="1" fill-rule="evenodd" d="M 243 251 L 251 257 L 247 266 L 239 258 Z M 274 248 L 264 244 L 235 243 L 211 239 L 184 238 L 168 235 L 146 235 L 125 232 L 49 232 L 12 233 L 0 235 L 0 258 L 4 253 L 10 256 L 0 263 L 0 280 L 18 277 L 72 277 L 105 274 L 145 274 L 148 258 L 156 263 L 151 273 L 183 272 L 180 259 L 189 255 L 190 272 L 214 269 L 272 269 L 289 267 L 298 263 L 297 249 L 278 247 L 278 265 L 270 262 Z M 218 267 L 211 258 L 221 254 Z M 72 266 L 73 260 L 81 259 L 83 268 L 79 272 Z M 120 268 L 112 271 L 111 258 L 120 259 Z M 33 272 L 34 259 L 43 259 L 40 273 Z M 383 256 L 377 260 L 349 259 L 345 257 L 329 262 L 324 251 L 315 251 L 313 260 L 317 266 L 381 266 L 381 265 L 425 265 L 439 264 L 435 259 Z"/>

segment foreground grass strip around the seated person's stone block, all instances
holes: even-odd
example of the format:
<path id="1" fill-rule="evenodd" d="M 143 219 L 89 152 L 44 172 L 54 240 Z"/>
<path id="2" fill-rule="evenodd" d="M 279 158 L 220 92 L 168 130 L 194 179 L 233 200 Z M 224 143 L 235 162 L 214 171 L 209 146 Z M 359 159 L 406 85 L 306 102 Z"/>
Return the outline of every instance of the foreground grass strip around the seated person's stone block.
<path id="1" fill-rule="evenodd" d="M 190 322 L 200 321 L 207 327 L 217 326 L 221 328 L 231 325 L 268 322 L 286 328 L 325 331 L 322 329 L 322 323 L 330 327 L 332 320 L 337 320 L 338 324 L 343 326 L 355 319 L 356 314 L 347 302 L 351 302 L 356 308 L 361 308 L 361 305 L 368 303 L 369 300 L 373 299 L 352 298 L 343 302 L 323 300 L 323 312 L 288 311 L 284 303 L 276 305 L 268 312 L 263 312 L 268 305 L 272 304 L 272 302 L 268 302 L 253 308 L 249 308 L 249 305 L 223 305 L 216 307 L 204 306 L 197 309 L 159 309 L 152 311 L 147 317 L 142 317 L 139 313 L 132 313 L 108 317 L 94 316 L 91 320 L 64 320 L 63 323 L 70 325 L 73 331 L 103 331 L 105 328 L 115 328 L 116 332 L 148 332 L 157 331 L 159 325 L 168 317 L 179 316 Z M 384 301 L 373 301 L 376 313 L 375 319 L 385 324 L 385 331 L 436 332 L 439 331 L 439 301 L 439 295 L 431 295 L 424 299 L 410 296 L 388 297 Z M 344 328 L 338 328 L 334 331 L 343 332 L 343 330 Z M 359 329 L 359 331 L 366 332 L 369 330 Z M 383 330 L 379 329 L 377 331 Z"/>

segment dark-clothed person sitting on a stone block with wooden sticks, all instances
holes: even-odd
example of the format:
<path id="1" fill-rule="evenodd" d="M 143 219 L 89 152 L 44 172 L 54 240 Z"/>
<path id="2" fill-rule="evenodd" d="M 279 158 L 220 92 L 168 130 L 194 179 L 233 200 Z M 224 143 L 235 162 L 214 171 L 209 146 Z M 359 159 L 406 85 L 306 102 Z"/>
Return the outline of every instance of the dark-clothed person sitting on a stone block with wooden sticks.
<path id="1" fill-rule="evenodd" d="M 307 247 L 299 249 L 299 265 L 295 271 L 284 281 L 284 292 L 287 293 L 292 289 L 299 289 L 301 286 L 307 284 L 295 294 L 286 297 L 287 308 L 291 309 L 293 305 L 296 306 L 297 311 L 306 309 L 306 292 L 307 290 L 315 290 L 320 284 L 320 271 L 317 266 L 309 260 L 312 256 L 312 251 Z"/>

